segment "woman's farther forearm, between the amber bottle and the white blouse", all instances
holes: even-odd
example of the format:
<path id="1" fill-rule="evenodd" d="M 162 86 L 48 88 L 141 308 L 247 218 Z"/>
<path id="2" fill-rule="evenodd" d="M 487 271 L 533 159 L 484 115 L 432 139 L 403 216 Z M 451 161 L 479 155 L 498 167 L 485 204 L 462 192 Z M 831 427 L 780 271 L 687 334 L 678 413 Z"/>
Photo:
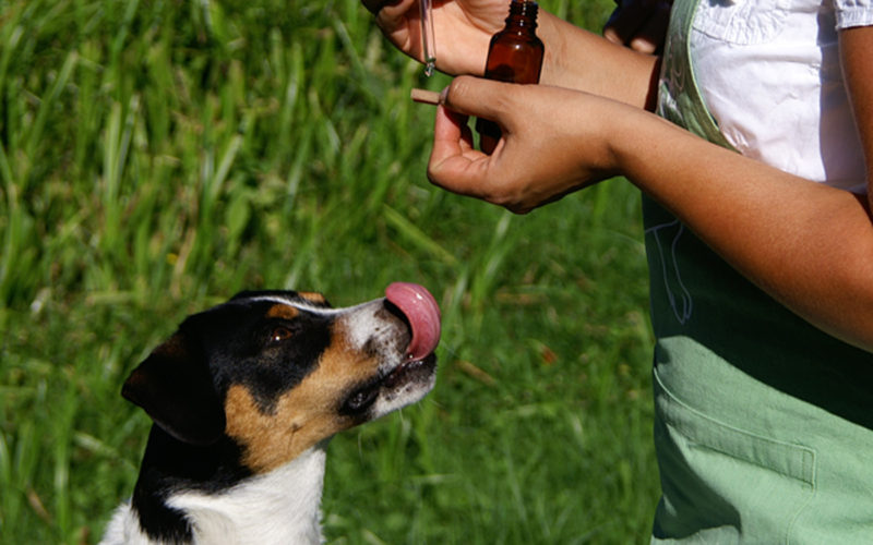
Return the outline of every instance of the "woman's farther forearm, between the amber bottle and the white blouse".
<path id="1" fill-rule="evenodd" d="M 537 34 L 546 45 L 540 83 L 651 110 L 660 58 L 615 45 L 548 12 Z"/>

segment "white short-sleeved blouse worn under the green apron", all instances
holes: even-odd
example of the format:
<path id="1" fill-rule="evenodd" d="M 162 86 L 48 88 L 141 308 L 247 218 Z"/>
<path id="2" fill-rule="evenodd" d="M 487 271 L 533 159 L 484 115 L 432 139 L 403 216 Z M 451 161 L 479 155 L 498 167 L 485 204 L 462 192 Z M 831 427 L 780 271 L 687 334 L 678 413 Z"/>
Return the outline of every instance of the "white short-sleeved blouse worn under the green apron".
<path id="1" fill-rule="evenodd" d="M 702 0 L 694 76 L 728 142 L 784 171 L 864 193 L 837 31 L 866 25 L 873 0 Z"/>

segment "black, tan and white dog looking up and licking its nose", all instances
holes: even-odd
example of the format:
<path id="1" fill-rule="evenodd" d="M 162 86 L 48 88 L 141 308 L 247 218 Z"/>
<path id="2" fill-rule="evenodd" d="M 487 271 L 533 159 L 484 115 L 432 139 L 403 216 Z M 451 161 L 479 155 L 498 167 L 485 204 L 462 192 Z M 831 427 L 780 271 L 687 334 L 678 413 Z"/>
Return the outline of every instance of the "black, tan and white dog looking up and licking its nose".
<path id="1" fill-rule="evenodd" d="M 189 316 L 122 387 L 153 425 L 100 543 L 320 543 L 330 438 L 431 390 L 440 327 L 404 282 L 346 308 L 256 291 Z"/>

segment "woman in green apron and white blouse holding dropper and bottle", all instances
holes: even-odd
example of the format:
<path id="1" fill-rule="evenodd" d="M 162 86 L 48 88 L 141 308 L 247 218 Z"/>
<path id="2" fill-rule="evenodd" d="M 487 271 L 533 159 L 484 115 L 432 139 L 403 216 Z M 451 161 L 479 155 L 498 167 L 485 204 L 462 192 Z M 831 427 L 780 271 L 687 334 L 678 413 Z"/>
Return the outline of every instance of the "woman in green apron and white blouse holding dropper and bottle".
<path id="1" fill-rule="evenodd" d="M 381 1 L 420 58 L 415 0 Z M 662 47 L 642 4 L 612 40 L 540 10 L 539 85 L 477 77 L 505 0 L 436 4 L 457 77 L 428 175 L 516 213 L 613 177 L 642 191 L 653 543 L 873 543 L 873 3 L 675 0 Z M 501 126 L 491 155 L 469 116 Z"/>

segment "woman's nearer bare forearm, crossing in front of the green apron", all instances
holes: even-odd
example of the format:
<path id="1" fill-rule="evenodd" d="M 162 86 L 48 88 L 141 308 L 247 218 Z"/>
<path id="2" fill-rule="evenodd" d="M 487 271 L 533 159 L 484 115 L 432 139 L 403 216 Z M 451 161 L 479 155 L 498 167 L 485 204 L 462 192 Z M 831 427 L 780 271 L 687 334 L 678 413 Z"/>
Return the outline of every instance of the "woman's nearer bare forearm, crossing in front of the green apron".
<path id="1" fill-rule="evenodd" d="M 776 300 L 873 351 L 873 223 L 863 197 L 748 159 L 654 116 L 633 118 L 614 138 L 622 173 Z"/>

